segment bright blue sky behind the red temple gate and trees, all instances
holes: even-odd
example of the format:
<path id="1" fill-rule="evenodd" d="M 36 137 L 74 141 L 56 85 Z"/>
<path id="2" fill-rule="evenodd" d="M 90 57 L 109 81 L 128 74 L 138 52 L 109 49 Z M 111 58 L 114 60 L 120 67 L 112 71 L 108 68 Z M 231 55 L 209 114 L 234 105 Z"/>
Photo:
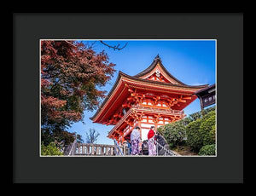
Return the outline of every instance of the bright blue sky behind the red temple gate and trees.
<path id="1" fill-rule="evenodd" d="M 127 43 L 121 50 L 109 49 L 96 40 L 84 40 L 85 44 L 92 45 L 98 53 L 102 50 L 108 54 L 109 61 L 116 64 L 116 72 L 113 78 L 102 87 L 102 90 L 112 88 L 118 72 L 125 72 L 128 75 L 136 75 L 142 72 L 154 61 L 156 55 L 160 55 L 162 64 L 175 78 L 189 85 L 215 84 L 216 81 L 216 49 L 215 40 L 103 40 L 109 45 L 120 44 L 120 47 Z M 107 93 L 108 95 L 108 93 Z M 184 112 L 189 115 L 201 110 L 199 99 L 196 99 Z M 68 130 L 77 132 L 85 138 L 85 132 L 94 128 L 100 133 L 96 143 L 113 144 L 107 138 L 108 131 L 113 128 L 111 125 L 93 124 L 90 117 L 94 112 L 84 111 L 84 124 L 79 122 L 73 124 Z"/>

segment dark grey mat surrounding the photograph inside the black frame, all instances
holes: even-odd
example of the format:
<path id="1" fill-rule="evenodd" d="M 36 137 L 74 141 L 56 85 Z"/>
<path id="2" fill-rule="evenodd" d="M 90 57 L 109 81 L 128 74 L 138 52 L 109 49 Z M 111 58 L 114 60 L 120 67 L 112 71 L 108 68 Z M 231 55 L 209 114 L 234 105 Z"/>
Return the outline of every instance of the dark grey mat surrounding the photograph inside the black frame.
<path id="1" fill-rule="evenodd" d="M 13 25 L 10 27 L 13 32 L 11 149 L 14 183 L 243 182 L 241 10 L 222 9 L 208 13 L 167 9 L 156 12 L 126 10 L 124 13 L 113 10 L 76 10 L 79 11 L 76 13 L 67 13 L 67 10 L 55 10 L 54 13 L 26 11 L 14 10 L 11 14 Z M 81 25 L 84 21 L 86 25 Z M 178 159 L 39 157 L 38 62 L 39 39 L 42 38 L 217 39 L 218 156 Z M 229 100 L 227 95 L 234 91 L 238 92 L 236 100 Z M 236 112 L 230 112 L 235 105 Z M 124 175 L 124 170 L 129 175 Z"/>

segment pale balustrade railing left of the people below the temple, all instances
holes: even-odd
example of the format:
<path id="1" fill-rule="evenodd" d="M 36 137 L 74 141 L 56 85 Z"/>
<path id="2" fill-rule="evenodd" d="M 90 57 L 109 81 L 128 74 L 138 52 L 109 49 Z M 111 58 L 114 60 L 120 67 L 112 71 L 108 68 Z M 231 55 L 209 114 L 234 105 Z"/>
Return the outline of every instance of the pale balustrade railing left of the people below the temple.
<path id="1" fill-rule="evenodd" d="M 127 154 L 128 148 L 126 145 L 119 146 L 122 152 Z M 91 144 L 91 143 L 77 143 L 75 155 L 88 156 L 115 156 L 115 146 L 107 144 Z"/>

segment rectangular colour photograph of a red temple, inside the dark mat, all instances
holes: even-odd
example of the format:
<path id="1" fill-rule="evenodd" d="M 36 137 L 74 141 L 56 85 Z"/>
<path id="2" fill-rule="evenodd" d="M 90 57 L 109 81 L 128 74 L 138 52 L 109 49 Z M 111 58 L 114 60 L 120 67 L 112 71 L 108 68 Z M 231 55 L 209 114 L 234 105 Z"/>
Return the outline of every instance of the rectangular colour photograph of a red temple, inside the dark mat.
<path id="1" fill-rule="evenodd" d="M 40 39 L 40 157 L 217 157 L 217 39 Z"/>

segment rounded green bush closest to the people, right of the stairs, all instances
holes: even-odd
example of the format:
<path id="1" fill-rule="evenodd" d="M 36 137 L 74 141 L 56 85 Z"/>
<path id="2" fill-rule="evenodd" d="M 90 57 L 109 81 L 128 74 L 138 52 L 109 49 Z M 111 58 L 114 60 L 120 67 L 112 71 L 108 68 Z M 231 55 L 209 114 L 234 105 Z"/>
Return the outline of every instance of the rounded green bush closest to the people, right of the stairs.
<path id="1" fill-rule="evenodd" d="M 182 120 L 161 126 L 158 131 L 166 138 L 170 147 L 177 146 L 177 144 L 182 142 L 183 138 L 186 136 L 185 126 Z"/>

